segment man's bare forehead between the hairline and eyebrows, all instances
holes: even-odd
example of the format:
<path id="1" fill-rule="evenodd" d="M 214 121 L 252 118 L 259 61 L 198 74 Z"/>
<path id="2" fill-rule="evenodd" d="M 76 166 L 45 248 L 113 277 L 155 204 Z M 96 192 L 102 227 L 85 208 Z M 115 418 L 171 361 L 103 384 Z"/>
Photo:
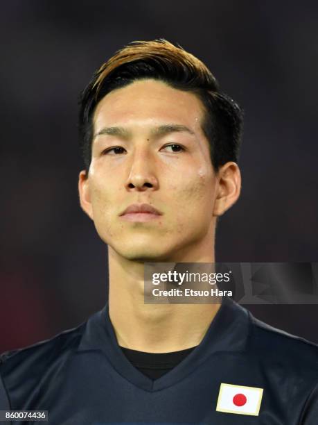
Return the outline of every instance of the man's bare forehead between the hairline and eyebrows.
<path id="1" fill-rule="evenodd" d="M 191 92 L 171 88 L 164 82 L 139 80 L 113 90 L 97 105 L 94 128 L 174 123 L 200 131 L 204 107 Z"/>

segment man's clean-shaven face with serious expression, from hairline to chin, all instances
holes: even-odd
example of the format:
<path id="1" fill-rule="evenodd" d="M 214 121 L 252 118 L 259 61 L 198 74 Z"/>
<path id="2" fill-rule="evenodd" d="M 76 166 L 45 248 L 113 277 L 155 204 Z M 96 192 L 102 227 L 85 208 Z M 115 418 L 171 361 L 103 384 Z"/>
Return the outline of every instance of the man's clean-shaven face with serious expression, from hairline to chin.
<path id="1" fill-rule="evenodd" d="M 202 244 L 213 249 L 218 179 L 203 115 L 194 94 L 154 80 L 114 90 L 98 103 L 80 200 L 100 238 L 120 256 L 174 261 Z M 159 215 L 123 215 L 141 204 Z"/>

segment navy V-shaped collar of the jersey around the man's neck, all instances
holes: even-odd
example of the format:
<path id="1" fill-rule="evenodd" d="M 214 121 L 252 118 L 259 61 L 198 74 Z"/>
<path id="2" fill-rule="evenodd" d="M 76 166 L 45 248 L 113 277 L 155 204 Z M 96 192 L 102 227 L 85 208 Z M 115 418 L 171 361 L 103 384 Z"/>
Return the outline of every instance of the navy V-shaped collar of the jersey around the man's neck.
<path id="1" fill-rule="evenodd" d="M 107 303 L 103 310 L 88 319 L 78 352 L 102 351 L 118 374 L 137 387 L 150 392 L 163 390 L 181 381 L 216 353 L 242 352 L 245 351 L 247 344 L 249 334 L 247 310 L 228 297 L 223 297 L 222 305 L 202 342 L 179 365 L 161 378 L 152 381 L 127 360 L 121 347 L 118 346 L 108 311 Z"/>

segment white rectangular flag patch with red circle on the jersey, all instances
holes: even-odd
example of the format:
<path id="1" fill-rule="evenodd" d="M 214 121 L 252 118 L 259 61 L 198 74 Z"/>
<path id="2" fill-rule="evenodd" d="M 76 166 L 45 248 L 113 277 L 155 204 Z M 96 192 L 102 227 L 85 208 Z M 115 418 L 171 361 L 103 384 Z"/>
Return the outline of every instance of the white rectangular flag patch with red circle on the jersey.
<path id="1" fill-rule="evenodd" d="M 258 416 L 262 397 L 263 388 L 221 383 L 216 411 Z"/>

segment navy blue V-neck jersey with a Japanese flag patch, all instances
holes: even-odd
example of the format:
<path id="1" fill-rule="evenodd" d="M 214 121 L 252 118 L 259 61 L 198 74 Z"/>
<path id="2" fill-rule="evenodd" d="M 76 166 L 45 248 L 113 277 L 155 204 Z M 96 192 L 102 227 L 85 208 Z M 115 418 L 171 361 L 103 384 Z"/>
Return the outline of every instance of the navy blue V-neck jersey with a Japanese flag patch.
<path id="1" fill-rule="evenodd" d="M 318 424 L 318 347 L 227 298 L 202 342 L 161 378 L 127 360 L 107 306 L 3 354 L 0 376 L 0 410 L 48 410 L 54 425 Z"/>

